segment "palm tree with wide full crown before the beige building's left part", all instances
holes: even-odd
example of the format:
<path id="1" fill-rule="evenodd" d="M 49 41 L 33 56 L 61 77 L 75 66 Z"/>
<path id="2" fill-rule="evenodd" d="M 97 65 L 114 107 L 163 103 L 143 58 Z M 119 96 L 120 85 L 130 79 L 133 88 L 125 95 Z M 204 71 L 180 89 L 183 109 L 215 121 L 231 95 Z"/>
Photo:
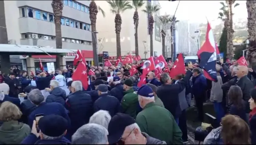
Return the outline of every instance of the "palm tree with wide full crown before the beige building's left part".
<path id="1" fill-rule="evenodd" d="M 121 42 L 120 42 L 120 32 L 121 32 L 121 24 L 122 18 L 121 13 L 128 9 L 132 9 L 132 6 L 128 0 L 107 0 L 110 4 L 110 11 L 116 14 L 115 17 L 115 28 L 116 28 L 116 38 L 117 38 L 117 57 L 121 56 Z"/>

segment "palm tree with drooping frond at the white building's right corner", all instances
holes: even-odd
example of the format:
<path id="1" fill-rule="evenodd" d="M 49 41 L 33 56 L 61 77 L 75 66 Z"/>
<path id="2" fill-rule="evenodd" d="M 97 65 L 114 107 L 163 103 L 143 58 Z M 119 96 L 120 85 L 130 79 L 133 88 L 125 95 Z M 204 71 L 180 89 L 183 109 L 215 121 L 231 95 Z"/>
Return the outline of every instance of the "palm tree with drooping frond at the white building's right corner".
<path id="1" fill-rule="evenodd" d="M 96 36 L 96 20 L 97 14 L 99 11 L 102 13 L 103 17 L 105 18 L 105 12 L 97 6 L 94 0 L 91 1 L 89 6 L 89 13 L 90 13 L 90 20 L 91 20 L 91 27 L 92 27 L 92 50 L 93 50 L 93 62 L 95 66 L 98 66 L 98 57 L 97 57 L 97 36 Z"/>

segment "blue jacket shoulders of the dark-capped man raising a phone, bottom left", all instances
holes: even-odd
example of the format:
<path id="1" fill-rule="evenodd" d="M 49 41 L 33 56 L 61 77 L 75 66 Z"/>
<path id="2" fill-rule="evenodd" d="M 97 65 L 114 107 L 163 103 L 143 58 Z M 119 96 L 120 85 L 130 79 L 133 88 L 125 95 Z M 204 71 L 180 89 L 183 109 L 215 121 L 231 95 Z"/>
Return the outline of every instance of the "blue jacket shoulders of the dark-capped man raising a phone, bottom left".
<path id="1" fill-rule="evenodd" d="M 71 144 L 65 137 L 61 139 L 39 139 L 33 133 L 30 133 L 20 144 L 53 144 L 53 145 L 67 145 Z"/>

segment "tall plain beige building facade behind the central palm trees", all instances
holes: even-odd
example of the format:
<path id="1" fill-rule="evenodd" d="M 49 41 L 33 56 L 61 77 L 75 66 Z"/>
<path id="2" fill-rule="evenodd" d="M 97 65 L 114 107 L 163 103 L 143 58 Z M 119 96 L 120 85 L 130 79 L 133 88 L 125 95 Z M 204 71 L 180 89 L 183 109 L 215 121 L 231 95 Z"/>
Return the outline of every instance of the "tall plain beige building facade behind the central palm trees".
<path id="1" fill-rule="evenodd" d="M 116 46 L 116 32 L 115 32 L 115 14 L 110 11 L 110 5 L 106 1 L 95 1 L 97 6 L 100 6 L 106 13 L 106 17 L 103 18 L 100 12 L 97 15 L 97 39 L 98 39 L 98 53 L 102 54 L 103 51 L 107 51 L 110 57 L 117 55 Z M 130 1 L 131 2 L 131 1 Z M 145 6 L 142 6 L 138 10 L 139 25 L 138 25 L 138 46 L 139 55 L 141 59 L 147 59 L 150 57 L 150 37 L 148 33 L 148 14 L 142 12 L 145 9 L 146 4 L 158 4 L 158 1 L 145 1 Z M 120 33 L 121 41 L 121 55 L 127 54 L 135 55 L 135 28 L 133 22 L 134 9 L 126 10 L 121 13 L 122 25 Z M 156 21 L 158 13 L 153 17 Z M 156 26 L 157 25 L 157 26 Z M 154 55 L 159 56 L 162 54 L 162 42 L 161 42 L 161 26 L 156 22 L 153 30 L 153 49 Z M 144 53 L 146 52 L 146 54 Z"/>

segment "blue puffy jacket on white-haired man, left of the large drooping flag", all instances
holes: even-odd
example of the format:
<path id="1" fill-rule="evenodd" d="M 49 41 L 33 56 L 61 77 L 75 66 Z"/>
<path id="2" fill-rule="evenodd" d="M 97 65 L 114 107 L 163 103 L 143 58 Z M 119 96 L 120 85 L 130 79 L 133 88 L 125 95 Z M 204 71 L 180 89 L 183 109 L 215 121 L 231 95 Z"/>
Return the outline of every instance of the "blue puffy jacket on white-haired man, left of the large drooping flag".
<path id="1" fill-rule="evenodd" d="M 47 103 L 57 102 L 64 106 L 65 100 L 66 100 L 66 91 L 60 87 L 57 87 L 57 88 L 54 88 L 52 91 L 50 91 L 50 95 L 47 96 L 45 101 Z"/>

